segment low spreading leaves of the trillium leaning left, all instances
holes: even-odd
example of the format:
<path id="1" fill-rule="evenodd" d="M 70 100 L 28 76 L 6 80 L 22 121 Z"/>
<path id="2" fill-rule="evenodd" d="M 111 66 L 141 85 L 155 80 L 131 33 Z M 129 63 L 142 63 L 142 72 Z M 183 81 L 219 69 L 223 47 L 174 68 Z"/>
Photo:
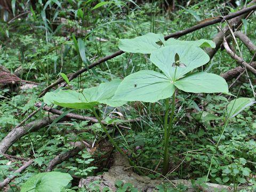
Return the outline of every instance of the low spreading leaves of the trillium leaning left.
<path id="1" fill-rule="evenodd" d="M 75 90 L 59 90 L 46 93 L 44 95 L 44 102 L 48 105 L 54 103 L 62 107 L 76 109 L 91 109 L 99 103 L 104 103 L 112 107 L 121 106 L 124 105 L 124 101 L 110 101 L 121 82 L 121 79 L 114 79 L 111 82 L 84 89 L 83 94 Z"/>

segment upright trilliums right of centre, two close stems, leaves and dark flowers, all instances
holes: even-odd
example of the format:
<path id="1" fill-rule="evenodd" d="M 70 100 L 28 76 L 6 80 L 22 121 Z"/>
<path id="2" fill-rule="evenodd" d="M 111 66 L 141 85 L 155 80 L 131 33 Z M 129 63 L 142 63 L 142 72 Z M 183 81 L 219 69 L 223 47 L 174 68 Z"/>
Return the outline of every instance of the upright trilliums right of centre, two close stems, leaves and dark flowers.
<path id="1" fill-rule="evenodd" d="M 175 89 L 191 93 L 228 93 L 228 85 L 222 77 L 205 72 L 193 72 L 193 69 L 203 66 L 210 60 L 209 55 L 201 49 L 204 46 L 215 47 L 215 44 L 205 39 L 178 41 L 171 38 L 165 41 L 162 34 L 153 33 L 119 41 L 119 49 L 123 51 L 150 53 L 151 62 L 162 71 L 161 73 L 141 70 L 125 77 L 112 100 L 156 102 L 165 99 L 164 174 L 168 171 L 169 138 L 175 121 Z"/>

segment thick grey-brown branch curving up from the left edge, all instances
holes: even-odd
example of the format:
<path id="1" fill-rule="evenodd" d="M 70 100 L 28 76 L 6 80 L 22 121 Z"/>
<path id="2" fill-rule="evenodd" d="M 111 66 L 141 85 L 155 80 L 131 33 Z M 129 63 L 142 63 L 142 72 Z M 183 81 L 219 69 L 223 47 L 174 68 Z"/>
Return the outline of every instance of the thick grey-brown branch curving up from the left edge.
<path id="1" fill-rule="evenodd" d="M 14 142 L 16 142 L 18 139 L 26 135 L 28 132 L 34 132 L 37 131 L 46 125 L 51 124 L 59 115 L 52 115 L 49 117 L 45 117 L 41 120 L 30 122 L 26 124 L 25 126 L 20 126 L 18 128 L 14 128 L 12 131 L 10 131 L 6 137 L 0 142 L 0 152 L 5 153 Z M 60 119 L 60 121 L 66 121 L 68 117 L 63 117 Z"/>

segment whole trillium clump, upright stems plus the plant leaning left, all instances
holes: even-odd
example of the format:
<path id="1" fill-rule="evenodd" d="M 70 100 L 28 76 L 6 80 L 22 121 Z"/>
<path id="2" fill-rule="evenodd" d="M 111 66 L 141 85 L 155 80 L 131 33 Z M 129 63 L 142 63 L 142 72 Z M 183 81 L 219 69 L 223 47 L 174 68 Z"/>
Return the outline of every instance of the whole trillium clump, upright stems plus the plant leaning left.
<path id="1" fill-rule="evenodd" d="M 156 102 L 164 99 L 166 111 L 163 173 L 166 174 L 169 165 L 170 132 L 175 121 L 175 89 L 191 93 L 228 93 L 228 85 L 222 77 L 194 71 L 210 60 L 209 55 L 201 47 L 215 47 L 215 44 L 205 39 L 178 41 L 170 38 L 165 41 L 163 34 L 154 33 L 134 39 L 120 39 L 119 49 L 125 52 L 150 54 L 150 61 L 159 70 L 140 70 L 126 76 L 123 80 L 114 79 L 85 90 L 57 90 L 46 93 L 44 102 L 62 107 L 91 109 L 110 142 L 121 154 L 124 154 L 101 123 L 94 107 L 99 103 L 117 107 L 127 101 Z M 169 106 L 170 98 L 172 98 L 171 106 Z M 130 159 L 129 161 L 134 165 Z"/>

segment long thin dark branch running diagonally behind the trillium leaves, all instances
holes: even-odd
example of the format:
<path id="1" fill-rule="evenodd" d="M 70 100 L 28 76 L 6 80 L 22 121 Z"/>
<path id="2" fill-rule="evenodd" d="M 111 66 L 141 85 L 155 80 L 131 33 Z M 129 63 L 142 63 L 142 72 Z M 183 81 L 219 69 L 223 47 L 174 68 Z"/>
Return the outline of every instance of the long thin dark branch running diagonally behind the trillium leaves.
<path id="1" fill-rule="evenodd" d="M 255 2 L 256 2 L 256 0 L 253 0 L 249 5 L 251 5 L 251 4 L 255 3 Z M 233 24 L 233 23 L 234 23 L 234 24 L 235 24 L 235 23 L 241 23 L 241 19 L 243 19 L 243 18 L 246 16 L 246 15 L 243 15 L 243 14 L 245 14 L 245 13 L 249 14 L 249 12 L 254 11 L 255 9 L 256 9 L 256 5 L 252 5 L 252 6 L 250 6 L 250 7 L 247 7 L 247 8 L 244 8 L 244 9 L 242 9 L 242 10 L 239 10 L 239 11 L 237 11 L 237 12 L 235 12 L 235 13 L 231 13 L 231 14 L 228 14 L 228 15 L 226 15 L 226 16 L 223 16 L 222 18 L 224 18 L 225 20 L 232 19 L 232 20 L 230 21 L 231 24 Z M 241 15 L 241 16 L 239 16 L 239 15 Z M 164 38 L 165 38 L 165 40 L 166 40 L 166 39 L 169 39 L 169 38 L 171 38 L 171 37 L 178 38 L 178 37 L 180 37 L 180 36 L 182 36 L 182 35 L 186 35 L 186 34 L 188 34 L 188 33 L 191 33 L 191 32 L 193 32 L 193 31 L 198 30 L 198 29 L 201 29 L 201 28 L 203 28 L 203 27 L 207 27 L 207 26 L 213 25 L 213 24 L 215 24 L 215 23 L 221 22 L 221 21 L 222 21 L 222 18 L 217 18 L 217 19 L 213 19 L 213 20 L 210 20 L 210 21 L 203 22 L 203 23 L 201 23 L 201 24 L 198 24 L 198 25 L 196 25 L 196 26 L 190 27 L 190 28 L 188 28 L 188 29 L 185 29 L 185 30 L 182 30 L 182 31 L 178 31 L 178 32 L 172 33 L 172 34 L 170 34 L 170 35 L 166 35 Z M 233 19 L 233 18 L 235 18 L 235 19 Z M 226 27 L 225 30 L 227 31 L 227 30 L 228 30 L 228 27 Z M 223 33 L 222 33 L 222 32 L 220 32 L 220 33 L 217 35 L 217 37 L 214 38 L 213 41 L 216 43 L 217 46 L 216 46 L 215 49 L 209 49 L 209 50 L 207 50 L 207 53 L 210 55 L 210 58 L 212 58 L 213 55 L 215 54 L 215 52 L 217 52 L 217 50 L 219 49 L 220 44 L 222 43 L 222 39 L 223 39 Z M 121 55 L 121 54 L 123 54 L 123 53 L 124 53 L 124 51 L 119 50 L 119 51 L 117 51 L 117 52 L 115 52 L 115 53 L 113 53 L 113 54 L 110 54 L 110 55 L 108 55 L 108 56 L 106 56 L 106 57 L 103 57 L 103 58 L 99 59 L 98 61 L 96 61 L 96 62 L 92 63 L 91 65 L 89 65 L 89 69 L 91 69 L 91 68 L 93 68 L 93 67 L 99 65 L 100 63 L 105 62 L 105 61 L 107 61 L 107 60 L 109 60 L 109 59 L 112 59 L 112 58 L 114 58 L 114 57 L 117 57 L 118 55 Z M 85 71 L 87 71 L 87 68 L 86 68 L 86 67 L 83 68 L 83 69 L 81 69 L 81 70 L 76 71 L 76 72 L 73 73 L 73 74 L 68 74 L 67 76 L 68 76 L 68 78 L 69 78 L 69 81 L 71 81 L 72 79 L 76 78 L 78 75 L 84 73 Z M 54 83 L 52 83 L 50 86 L 45 87 L 45 89 L 39 94 L 38 97 L 39 97 L 39 98 L 40 98 L 40 97 L 43 97 L 43 95 L 44 95 L 48 90 L 50 90 L 52 87 L 54 87 L 54 86 L 56 86 L 56 85 L 58 85 L 58 84 L 60 84 L 60 83 L 62 83 L 62 82 L 64 82 L 64 79 L 63 79 L 63 78 L 59 78 L 57 81 L 55 81 Z"/>

